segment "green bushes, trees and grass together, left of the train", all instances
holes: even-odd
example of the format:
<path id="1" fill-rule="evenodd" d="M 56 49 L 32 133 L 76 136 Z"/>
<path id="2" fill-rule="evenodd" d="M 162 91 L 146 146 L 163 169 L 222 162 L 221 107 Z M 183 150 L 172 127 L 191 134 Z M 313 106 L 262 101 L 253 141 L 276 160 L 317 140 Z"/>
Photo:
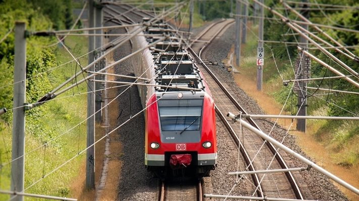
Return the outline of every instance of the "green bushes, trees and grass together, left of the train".
<path id="1" fill-rule="evenodd" d="M 72 25 L 71 12 L 69 0 L 0 1 L 0 38 L 12 30 L 15 21 L 24 21 L 29 31 L 69 27 Z M 66 18 L 61 16 L 66 16 Z M 51 21 L 53 18 L 56 19 Z M 87 51 L 87 44 L 83 40 L 72 37 L 66 40 L 76 56 Z M 68 64 L 64 66 L 68 68 L 53 69 L 72 59 L 66 51 L 49 47 L 50 44 L 56 42 L 55 38 L 30 36 L 26 41 L 26 102 L 34 103 L 54 86 L 62 83 L 66 77 L 71 76 L 75 68 L 74 64 Z M 77 44 L 77 46 L 72 44 Z M 84 60 L 82 59 L 81 62 Z M 14 32 L 0 43 L 0 71 L 2 72 L 0 73 L 0 108 L 11 109 L 13 107 Z M 79 86 L 78 90 L 83 92 L 85 88 L 84 85 Z M 86 106 L 83 104 L 85 101 L 85 96 L 78 96 L 66 102 L 57 100 L 26 111 L 25 151 L 31 153 L 25 157 L 25 187 L 42 178 L 44 174 L 72 158 L 85 147 L 86 140 L 82 135 L 85 130 L 83 124 L 68 131 L 62 137 L 65 131 L 85 119 Z M 8 113 L 0 116 L 1 164 L 11 160 L 11 128 L 12 110 L 8 110 Z M 68 183 L 77 175 L 81 160 L 83 156 L 69 163 L 71 168 L 67 166 L 66 171 L 60 169 L 31 187 L 28 192 L 69 196 L 71 192 Z M 0 168 L 0 189 L 10 188 L 10 167 L 8 164 Z M 0 194 L 0 200 L 8 198 L 8 195 Z"/>

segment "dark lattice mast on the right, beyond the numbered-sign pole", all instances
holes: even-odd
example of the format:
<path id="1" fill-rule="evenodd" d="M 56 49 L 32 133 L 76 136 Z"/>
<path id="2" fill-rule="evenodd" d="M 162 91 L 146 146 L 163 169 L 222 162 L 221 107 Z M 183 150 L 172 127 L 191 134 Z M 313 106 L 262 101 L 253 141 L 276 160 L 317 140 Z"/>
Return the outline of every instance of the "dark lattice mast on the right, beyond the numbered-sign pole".
<path id="1" fill-rule="evenodd" d="M 308 0 L 302 0 L 303 3 L 307 3 Z M 307 10 L 307 5 L 303 5 L 303 9 L 301 11 L 302 15 L 305 18 L 309 18 L 309 10 Z M 308 25 L 302 25 L 302 27 L 305 30 L 308 30 Z M 307 34 L 306 34 L 307 35 Z M 300 47 L 306 50 L 308 48 L 308 40 L 300 36 Z M 298 79 L 307 79 L 311 78 L 311 58 L 303 54 L 302 52 L 298 53 L 298 59 L 296 66 L 298 66 L 298 69 L 296 69 L 296 73 L 299 73 L 299 76 L 296 78 Z M 306 116 L 306 84 L 307 81 L 298 81 L 299 85 L 298 90 L 298 116 Z M 297 130 L 304 132 L 306 131 L 306 119 L 298 119 L 297 120 Z"/>

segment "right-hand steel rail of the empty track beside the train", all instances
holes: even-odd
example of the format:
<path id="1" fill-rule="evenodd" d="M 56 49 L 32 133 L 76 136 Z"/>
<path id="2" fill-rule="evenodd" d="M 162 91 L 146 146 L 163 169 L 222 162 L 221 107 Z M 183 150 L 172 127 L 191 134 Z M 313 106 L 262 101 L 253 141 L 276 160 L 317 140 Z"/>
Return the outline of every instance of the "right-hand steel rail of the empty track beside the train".
<path id="1" fill-rule="evenodd" d="M 217 33 L 217 35 L 219 34 L 219 32 Z M 204 35 L 204 34 L 203 34 Z M 212 42 L 212 40 L 215 38 L 212 37 L 210 43 Z M 210 44 L 208 43 L 208 44 Z M 243 114 L 247 114 L 245 112 L 245 110 L 238 104 L 237 100 L 235 100 L 235 98 L 229 93 L 229 91 L 223 86 L 223 84 L 220 82 L 220 80 L 215 76 L 215 74 L 209 69 L 209 67 L 204 64 L 204 62 L 202 61 L 202 59 L 200 58 L 201 56 L 201 53 L 204 49 L 206 49 L 208 46 L 206 45 L 205 47 L 203 47 L 200 52 L 199 52 L 199 56 L 197 54 L 195 54 L 195 52 L 193 51 L 192 48 L 188 48 L 189 52 L 191 52 L 195 57 L 196 59 L 198 60 L 198 62 L 200 62 L 202 64 L 202 66 L 204 67 L 204 69 L 206 69 L 208 71 L 208 73 L 212 76 L 212 78 L 216 81 L 216 83 L 220 86 L 220 88 L 224 91 L 224 93 L 229 97 L 229 99 L 231 100 L 231 102 L 234 104 L 234 106 L 239 110 L 241 111 Z M 252 125 L 253 127 L 257 128 L 258 130 L 262 131 L 260 129 L 260 127 L 253 121 L 253 119 L 251 118 L 246 118 L 246 120 L 249 122 L 250 125 Z M 263 138 L 262 138 L 263 139 Z M 263 139 L 264 140 L 264 139 Z M 284 159 L 281 157 L 281 155 L 279 153 L 277 153 L 276 149 L 274 148 L 273 144 L 268 142 L 268 141 L 265 141 L 266 142 L 266 145 L 267 147 L 271 150 L 272 154 L 275 155 L 277 161 L 279 162 L 280 166 L 283 168 L 283 169 L 288 169 L 288 166 L 287 164 L 284 162 Z M 298 199 L 303 199 L 303 196 L 302 196 L 302 193 L 292 175 L 291 172 L 285 172 L 285 175 L 287 176 L 287 179 L 289 181 L 289 183 L 291 184 L 292 188 L 293 188 L 293 191 L 296 195 L 296 197 Z"/>

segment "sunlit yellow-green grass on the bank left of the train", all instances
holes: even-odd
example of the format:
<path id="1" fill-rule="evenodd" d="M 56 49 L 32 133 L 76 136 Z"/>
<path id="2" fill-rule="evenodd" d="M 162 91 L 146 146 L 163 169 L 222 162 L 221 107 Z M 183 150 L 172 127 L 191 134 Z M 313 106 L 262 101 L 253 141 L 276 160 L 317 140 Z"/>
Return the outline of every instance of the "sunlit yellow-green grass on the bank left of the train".
<path id="1" fill-rule="evenodd" d="M 82 37 L 68 37 L 65 43 L 70 47 L 75 57 L 87 52 L 87 39 Z M 62 64 L 72 60 L 72 57 L 63 49 L 57 51 L 57 63 Z M 84 66 L 87 57 L 80 59 Z M 51 77 L 52 85 L 58 86 L 75 73 L 75 62 L 53 70 L 47 76 Z M 77 67 L 79 70 L 79 67 Z M 44 75 L 45 76 L 45 75 Z M 86 84 L 82 83 L 74 90 L 65 92 L 57 98 L 77 94 L 86 91 Z M 49 91 L 52 88 L 48 89 Z M 86 94 L 52 100 L 42 106 L 32 109 L 38 110 L 38 118 L 26 117 L 26 153 L 42 147 L 25 157 L 25 188 L 44 175 L 68 161 L 86 147 L 86 121 L 70 132 L 59 137 L 65 131 L 75 127 L 86 119 Z M 2 163 L 11 160 L 11 125 L 0 122 L 0 161 Z M 56 140 L 52 140 L 59 137 Z M 6 147 L 6 148 L 5 148 Z M 80 155 L 56 172 L 45 177 L 33 187 L 26 190 L 29 193 L 48 194 L 54 196 L 71 196 L 70 184 L 78 175 L 85 155 Z M 0 170 L 0 188 L 10 189 L 10 165 Z M 0 194 L 0 200 L 7 200 L 8 195 Z M 38 200 L 26 197 L 25 200 Z"/>

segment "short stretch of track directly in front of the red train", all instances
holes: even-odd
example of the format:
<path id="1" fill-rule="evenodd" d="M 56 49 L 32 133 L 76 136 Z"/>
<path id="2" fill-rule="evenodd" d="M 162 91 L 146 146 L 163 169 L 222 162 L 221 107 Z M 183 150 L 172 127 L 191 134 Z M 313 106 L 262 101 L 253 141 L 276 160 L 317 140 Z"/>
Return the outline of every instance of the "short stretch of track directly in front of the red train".
<path id="1" fill-rule="evenodd" d="M 158 198 L 159 201 L 202 201 L 201 181 L 162 181 Z"/>

